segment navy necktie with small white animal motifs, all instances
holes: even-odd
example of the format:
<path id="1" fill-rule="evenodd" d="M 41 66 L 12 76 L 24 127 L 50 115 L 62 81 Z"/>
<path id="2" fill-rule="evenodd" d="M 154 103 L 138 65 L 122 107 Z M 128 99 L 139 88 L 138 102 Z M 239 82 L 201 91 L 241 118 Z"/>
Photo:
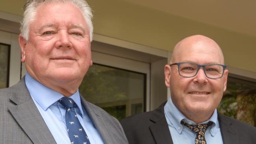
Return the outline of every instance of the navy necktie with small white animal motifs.
<path id="1" fill-rule="evenodd" d="M 74 100 L 72 98 L 63 97 L 59 100 L 59 103 L 66 109 L 66 126 L 71 144 L 91 144 L 77 118 L 74 109 Z"/>

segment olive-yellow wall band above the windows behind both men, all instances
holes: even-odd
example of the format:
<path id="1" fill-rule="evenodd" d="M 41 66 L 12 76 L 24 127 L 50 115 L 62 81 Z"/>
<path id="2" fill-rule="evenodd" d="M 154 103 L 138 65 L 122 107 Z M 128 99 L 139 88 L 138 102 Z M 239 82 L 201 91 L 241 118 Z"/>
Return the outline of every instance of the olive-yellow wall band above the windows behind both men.
<path id="1" fill-rule="evenodd" d="M 1 0 L 0 11 L 22 15 L 26 0 Z M 94 32 L 172 51 L 189 35 L 202 34 L 222 48 L 226 65 L 256 72 L 256 37 L 170 15 L 124 0 L 87 0 L 93 8 Z M 245 25 L 246 26 L 246 25 Z"/>

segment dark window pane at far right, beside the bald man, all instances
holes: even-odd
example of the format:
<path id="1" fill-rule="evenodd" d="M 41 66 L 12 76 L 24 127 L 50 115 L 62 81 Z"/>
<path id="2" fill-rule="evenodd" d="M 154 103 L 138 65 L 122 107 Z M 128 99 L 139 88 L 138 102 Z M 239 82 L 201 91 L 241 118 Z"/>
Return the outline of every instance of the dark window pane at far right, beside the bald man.
<path id="1" fill-rule="evenodd" d="M 219 113 L 256 126 L 256 83 L 228 77 Z"/>

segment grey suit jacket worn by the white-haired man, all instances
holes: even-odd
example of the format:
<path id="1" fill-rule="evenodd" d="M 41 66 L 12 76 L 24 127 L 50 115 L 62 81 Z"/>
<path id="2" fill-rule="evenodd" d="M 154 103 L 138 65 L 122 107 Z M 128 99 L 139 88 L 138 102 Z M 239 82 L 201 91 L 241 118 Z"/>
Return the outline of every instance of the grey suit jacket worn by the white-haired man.
<path id="1" fill-rule="evenodd" d="M 82 96 L 81 103 L 105 144 L 128 144 L 117 119 Z M 0 144 L 56 144 L 24 78 L 13 87 L 0 89 Z"/>

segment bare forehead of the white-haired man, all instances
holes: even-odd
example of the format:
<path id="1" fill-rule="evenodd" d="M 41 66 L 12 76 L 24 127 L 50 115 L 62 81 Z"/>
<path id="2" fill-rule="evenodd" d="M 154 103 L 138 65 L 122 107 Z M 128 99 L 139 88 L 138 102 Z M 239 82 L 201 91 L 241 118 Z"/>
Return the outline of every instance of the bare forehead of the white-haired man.
<path id="1" fill-rule="evenodd" d="M 69 7 L 69 9 L 59 11 L 64 6 Z M 76 18 L 72 15 L 76 15 Z M 64 25 L 69 28 L 80 28 L 82 30 L 87 29 L 86 20 L 80 9 L 78 9 L 74 4 L 68 2 L 49 2 L 40 4 L 36 8 L 35 19 L 31 24 L 35 24 L 37 30 L 49 27 L 57 28 L 58 26 Z"/>

